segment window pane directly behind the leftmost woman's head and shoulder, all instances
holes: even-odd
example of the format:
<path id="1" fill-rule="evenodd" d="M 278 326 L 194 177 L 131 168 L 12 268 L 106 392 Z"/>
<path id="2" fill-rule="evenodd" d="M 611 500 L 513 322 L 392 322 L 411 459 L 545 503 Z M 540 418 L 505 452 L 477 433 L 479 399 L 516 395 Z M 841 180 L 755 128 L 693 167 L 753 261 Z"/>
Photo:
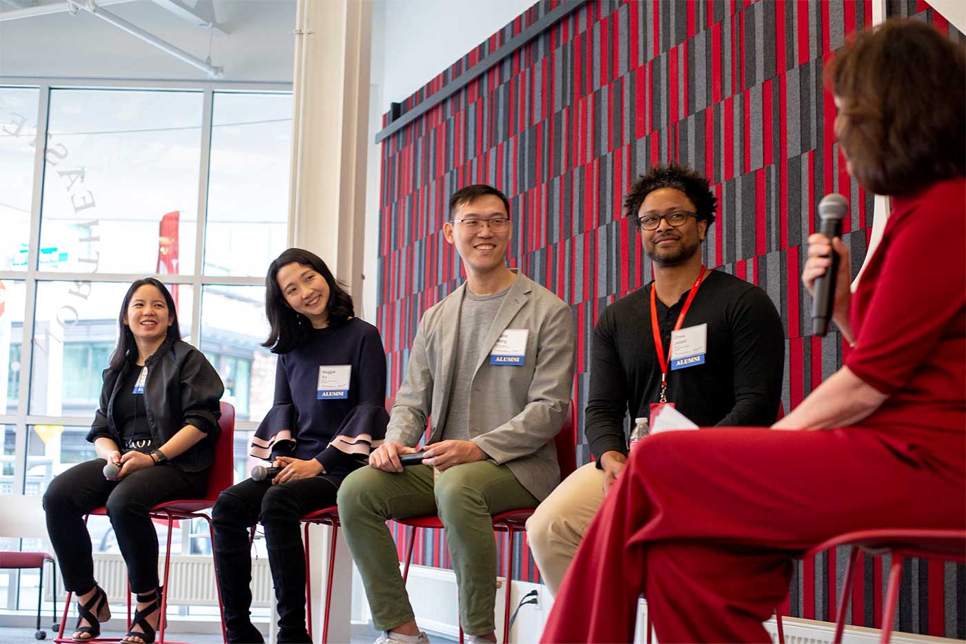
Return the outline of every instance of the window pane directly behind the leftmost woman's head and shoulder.
<path id="1" fill-rule="evenodd" d="M 30 411 L 47 416 L 93 416 L 101 372 L 117 344 L 118 313 L 130 285 L 42 281 L 37 286 Z M 189 340 L 191 287 L 169 287 L 182 337 Z"/>

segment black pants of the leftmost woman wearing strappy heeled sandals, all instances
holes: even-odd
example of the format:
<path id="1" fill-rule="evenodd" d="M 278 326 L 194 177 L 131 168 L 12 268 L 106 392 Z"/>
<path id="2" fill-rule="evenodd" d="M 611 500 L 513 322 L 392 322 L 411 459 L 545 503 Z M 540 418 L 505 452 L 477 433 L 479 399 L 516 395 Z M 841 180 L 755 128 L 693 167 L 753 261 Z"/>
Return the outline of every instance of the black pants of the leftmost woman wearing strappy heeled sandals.
<path id="1" fill-rule="evenodd" d="M 64 588 L 85 593 L 94 587 L 91 537 L 84 514 L 107 507 L 121 554 L 128 565 L 130 588 L 157 588 L 157 533 L 148 516 L 152 506 L 178 499 L 200 499 L 208 471 L 188 473 L 170 464 L 146 467 L 121 481 L 104 479 L 103 458 L 74 465 L 56 477 L 43 494 L 47 534 L 64 575 Z"/>

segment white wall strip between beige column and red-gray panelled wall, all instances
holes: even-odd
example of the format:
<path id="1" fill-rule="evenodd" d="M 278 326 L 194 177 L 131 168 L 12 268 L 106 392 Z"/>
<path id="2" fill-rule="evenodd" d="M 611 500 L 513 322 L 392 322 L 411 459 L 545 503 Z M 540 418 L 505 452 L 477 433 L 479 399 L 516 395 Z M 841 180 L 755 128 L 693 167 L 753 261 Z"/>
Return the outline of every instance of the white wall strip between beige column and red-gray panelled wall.
<path id="1" fill-rule="evenodd" d="M 363 315 L 375 323 L 382 130 L 390 102 L 402 102 L 536 0 L 373 0 L 372 85 L 366 193 Z"/>

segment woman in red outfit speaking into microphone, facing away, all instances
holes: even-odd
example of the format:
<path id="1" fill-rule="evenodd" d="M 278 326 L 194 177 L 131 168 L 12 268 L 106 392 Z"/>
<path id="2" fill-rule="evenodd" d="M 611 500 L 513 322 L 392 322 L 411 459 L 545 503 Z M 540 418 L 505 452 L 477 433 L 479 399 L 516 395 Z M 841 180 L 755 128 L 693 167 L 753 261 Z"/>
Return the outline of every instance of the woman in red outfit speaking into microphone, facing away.
<path id="1" fill-rule="evenodd" d="M 855 292 L 849 251 L 809 239 L 802 279 L 840 255 L 844 366 L 772 428 L 644 439 L 591 524 L 546 642 L 771 641 L 792 561 L 836 535 L 966 528 L 966 63 L 925 23 L 890 20 L 827 70 L 849 173 L 893 197 Z M 789 431 L 778 431 L 787 429 Z"/>

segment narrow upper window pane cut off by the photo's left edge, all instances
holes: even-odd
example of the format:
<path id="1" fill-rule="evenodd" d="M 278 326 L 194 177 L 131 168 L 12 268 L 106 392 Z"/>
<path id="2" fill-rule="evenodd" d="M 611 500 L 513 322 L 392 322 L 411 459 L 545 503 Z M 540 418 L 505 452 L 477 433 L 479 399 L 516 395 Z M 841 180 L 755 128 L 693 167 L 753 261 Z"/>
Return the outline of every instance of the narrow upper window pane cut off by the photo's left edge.
<path id="1" fill-rule="evenodd" d="M 27 269 L 39 99 L 37 88 L 0 87 L 0 271 Z"/>

